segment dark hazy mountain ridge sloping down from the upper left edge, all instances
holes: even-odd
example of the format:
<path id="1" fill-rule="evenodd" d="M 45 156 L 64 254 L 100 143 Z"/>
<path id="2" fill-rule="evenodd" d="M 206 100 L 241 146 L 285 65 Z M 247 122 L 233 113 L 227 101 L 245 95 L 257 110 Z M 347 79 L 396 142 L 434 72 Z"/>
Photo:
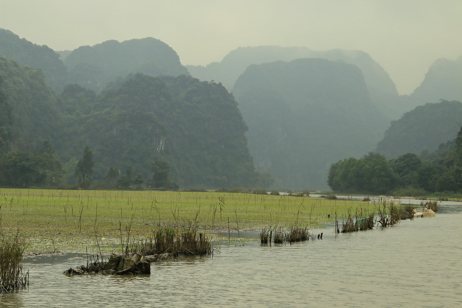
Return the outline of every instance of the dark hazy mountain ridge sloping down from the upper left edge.
<path id="1" fill-rule="evenodd" d="M 47 84 L 61 93 L 67 69 L 53 49 L 19 38 L 10 30 L 0 29 L 0 55 L 14 59 L 22 65 L 40 68 Z"/>

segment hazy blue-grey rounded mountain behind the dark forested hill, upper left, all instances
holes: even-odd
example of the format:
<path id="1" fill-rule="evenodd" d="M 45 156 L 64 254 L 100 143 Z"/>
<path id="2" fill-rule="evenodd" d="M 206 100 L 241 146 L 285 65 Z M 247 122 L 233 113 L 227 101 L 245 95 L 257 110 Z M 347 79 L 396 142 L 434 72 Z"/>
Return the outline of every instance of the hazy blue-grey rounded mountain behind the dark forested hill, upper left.
<path id="1" fill-rule="evenodd" d="M 128 73 L 140 72 L 150 76 L 189 74 L 175 50 L 152 37 L 81 46 L 68 54 L 64 63 L 69 68 L 69 82 L 97 93 L 109 82 Z"/>

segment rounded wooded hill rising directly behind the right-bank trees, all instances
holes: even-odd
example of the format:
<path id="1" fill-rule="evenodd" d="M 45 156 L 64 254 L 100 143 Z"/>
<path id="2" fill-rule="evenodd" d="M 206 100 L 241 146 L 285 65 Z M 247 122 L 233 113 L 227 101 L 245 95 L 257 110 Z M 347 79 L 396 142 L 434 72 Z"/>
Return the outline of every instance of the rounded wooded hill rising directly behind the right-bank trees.
<path id="1" fill-rule="evenodd" d="M 392 121 L 377 144 L 377 151 L 388 159 L 422 150 L 436 151 L 438 145 L 454 139 L 462 123 L 462 103 L 426 103 Z"/>

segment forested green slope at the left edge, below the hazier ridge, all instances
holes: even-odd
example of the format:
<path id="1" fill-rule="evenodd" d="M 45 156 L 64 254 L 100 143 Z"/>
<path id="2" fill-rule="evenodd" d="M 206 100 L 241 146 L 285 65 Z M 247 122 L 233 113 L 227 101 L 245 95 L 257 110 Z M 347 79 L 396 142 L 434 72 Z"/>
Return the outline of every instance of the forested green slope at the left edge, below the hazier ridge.
<path id="1" fill-rule="evenodd" d="M 42 146 L 43 139 L 57 139 L 61 112 L 42 72 L 0 56 L 0 76 L 12 109 L 14 147 L 30 151 Z"/>

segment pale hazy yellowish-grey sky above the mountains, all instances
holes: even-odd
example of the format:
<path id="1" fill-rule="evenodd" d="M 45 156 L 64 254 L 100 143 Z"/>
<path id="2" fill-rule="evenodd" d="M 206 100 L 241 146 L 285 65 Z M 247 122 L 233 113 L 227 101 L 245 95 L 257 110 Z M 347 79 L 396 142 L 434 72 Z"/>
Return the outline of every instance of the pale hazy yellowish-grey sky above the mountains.
<path id="1" fill-rule="evenodd" d="M 239 46 L 358 49 L 408 94 L 433 61 L 462 55 L 462 0 L 0 0 L 0 28 L 55 50 L 152 36 L 185 65 Z"/>

